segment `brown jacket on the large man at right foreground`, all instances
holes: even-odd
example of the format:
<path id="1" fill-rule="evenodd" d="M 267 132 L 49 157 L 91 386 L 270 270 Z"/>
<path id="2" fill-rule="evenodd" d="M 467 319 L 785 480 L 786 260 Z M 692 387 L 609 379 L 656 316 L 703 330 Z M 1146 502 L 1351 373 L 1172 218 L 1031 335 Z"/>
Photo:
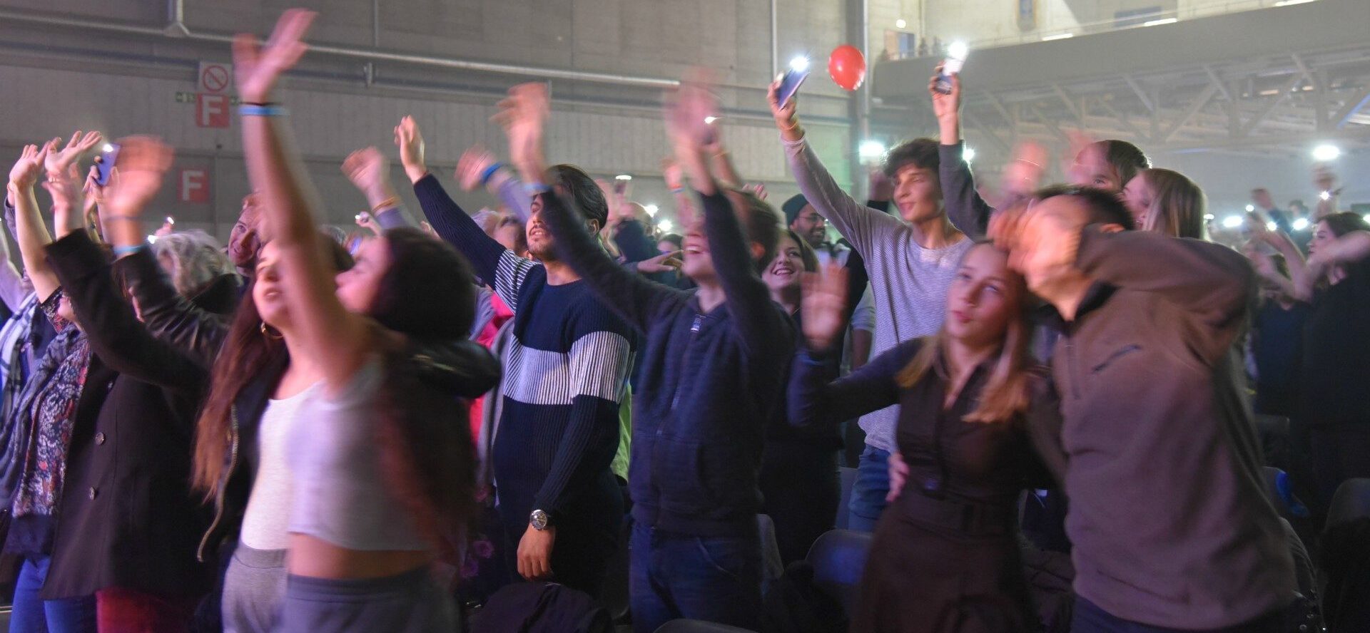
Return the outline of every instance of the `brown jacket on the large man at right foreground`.
<path id="1" fill-rule="evenodd" d="M 1237 349 L 1255 273 L 1225 246 L 1085 228 L 1097 283 L 1056 342 L 1075 592 L 1154 626 L 1214 629 L 1288 603 Z"/>

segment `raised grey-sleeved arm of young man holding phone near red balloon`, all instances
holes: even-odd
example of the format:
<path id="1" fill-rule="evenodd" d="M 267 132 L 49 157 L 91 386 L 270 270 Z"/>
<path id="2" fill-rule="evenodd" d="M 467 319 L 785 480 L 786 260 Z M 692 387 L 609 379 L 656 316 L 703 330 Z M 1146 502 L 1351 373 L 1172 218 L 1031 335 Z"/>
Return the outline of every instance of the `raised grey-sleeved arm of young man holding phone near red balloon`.
<path id="1" fill-rule="evenodd" d="M 795 175 L 795 182 L 799 183 L 799 190 L 808 198 L 808 204 L 814 205 L 814 209 L 827 219 L 833 228 L 847 238 L 856 250 L 870 253 L 869 249 L 875 242 L 899 230 L 903 221 L 889 213 L 862 205 L 844 191 L 837 180 L 833 180 L 832 174 L 827 172 L 823 163 L 818 160 L 818 154 L 804 139 L 804 129 L 800 126 L 795 109 L 799 97 L 792 97 L 781 107 L 775 96 L 778 89 L 780 82 L 770 87 L 771 113 L 775 116 L 775 126 L 780 127 L 785 153 L 789 157 L 789 170 Z"/>

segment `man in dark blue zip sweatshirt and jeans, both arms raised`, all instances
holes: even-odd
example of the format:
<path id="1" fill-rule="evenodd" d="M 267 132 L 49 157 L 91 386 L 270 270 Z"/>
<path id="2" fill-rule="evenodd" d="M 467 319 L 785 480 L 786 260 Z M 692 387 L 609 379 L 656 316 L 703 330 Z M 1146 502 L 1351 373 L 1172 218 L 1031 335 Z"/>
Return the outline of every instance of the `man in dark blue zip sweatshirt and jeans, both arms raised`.
<path id="1" fill-rule="evenodd" d="M 521 178 L 538 189 L 558 253 L 593 291 L 645 332 L 633 399 L 633 629 L 675 618 L 755 629 L 760 611 L 762 499 L 756 473 L 764 427 L 784 394 L 795 327 L 759 269 L 774 257 L 777 213 L 755 196 L 725 190 L 710 171 L 707 116 L 717 103 L 686 81 L 669 127 L 677 157 L 700 196 L 685 226 L 686 293 L 625 271 L 549 186 L 543 159 L 547 87 L 510 92 L 499 118 Z M 744 230 L 745 227 L 745 230 Z"/>

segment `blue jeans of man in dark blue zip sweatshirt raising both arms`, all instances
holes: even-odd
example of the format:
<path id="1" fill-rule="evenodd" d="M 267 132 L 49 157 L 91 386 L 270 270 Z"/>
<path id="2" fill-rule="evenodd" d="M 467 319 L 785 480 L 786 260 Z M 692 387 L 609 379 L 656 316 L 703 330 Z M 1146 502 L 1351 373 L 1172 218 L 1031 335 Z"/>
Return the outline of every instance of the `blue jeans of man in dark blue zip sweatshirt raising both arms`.
<path id="1" fill-rule="evenodd" d="M 760 629 L 762 550 L 747 535 L 697 537 L 633 526 L 629 603 L 633 632 L 677 618 Z"/>

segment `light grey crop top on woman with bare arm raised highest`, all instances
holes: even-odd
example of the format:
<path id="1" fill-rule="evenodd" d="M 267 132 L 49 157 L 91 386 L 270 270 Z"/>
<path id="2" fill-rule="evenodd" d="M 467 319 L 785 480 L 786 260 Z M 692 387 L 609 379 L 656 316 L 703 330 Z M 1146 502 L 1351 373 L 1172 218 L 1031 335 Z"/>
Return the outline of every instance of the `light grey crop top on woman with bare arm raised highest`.
<path id="1" fill-rule="evenodd" d="M 375 443 L 379 360 L 367 361 L 336 396 L 315 390 L 290 429 L 295 474 L 289 530 L 348 550 L 429 550 L 381 473 Z"/>

